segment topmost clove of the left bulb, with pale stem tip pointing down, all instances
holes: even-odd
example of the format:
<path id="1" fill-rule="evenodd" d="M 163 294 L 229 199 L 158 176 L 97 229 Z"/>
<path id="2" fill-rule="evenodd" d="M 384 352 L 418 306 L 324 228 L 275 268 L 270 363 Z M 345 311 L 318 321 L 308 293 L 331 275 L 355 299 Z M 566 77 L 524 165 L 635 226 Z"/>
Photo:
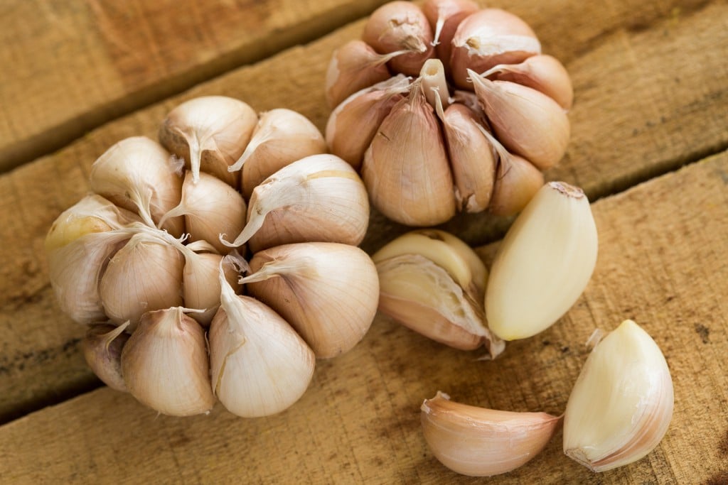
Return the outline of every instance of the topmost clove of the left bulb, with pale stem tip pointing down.
<path id="1" fill-rule="evenodd" d="M 258 115 L 246 103 L 226 96 L 195 97 L 167 114 L 159 141 L 184 159 L 195 183 L 207 172 L 237 187 L 238 175 L 228 167 L 248 145 Z"/>

